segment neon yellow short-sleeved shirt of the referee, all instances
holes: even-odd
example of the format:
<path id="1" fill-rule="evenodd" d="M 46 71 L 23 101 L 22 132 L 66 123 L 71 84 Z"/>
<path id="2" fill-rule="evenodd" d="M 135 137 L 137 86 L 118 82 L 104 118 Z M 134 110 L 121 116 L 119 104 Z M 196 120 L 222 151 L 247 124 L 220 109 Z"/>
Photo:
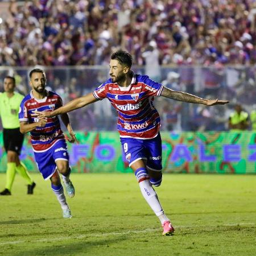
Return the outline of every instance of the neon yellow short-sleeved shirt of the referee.
<path id="1" fill-rule="evenodd" d="M 0 93 L 0 115 L 3 128 L 15 129 L 19 128 L 19 105 L 24 96 L 14 92 L 13 97 L 7 97 L 7 93 Z"/>

